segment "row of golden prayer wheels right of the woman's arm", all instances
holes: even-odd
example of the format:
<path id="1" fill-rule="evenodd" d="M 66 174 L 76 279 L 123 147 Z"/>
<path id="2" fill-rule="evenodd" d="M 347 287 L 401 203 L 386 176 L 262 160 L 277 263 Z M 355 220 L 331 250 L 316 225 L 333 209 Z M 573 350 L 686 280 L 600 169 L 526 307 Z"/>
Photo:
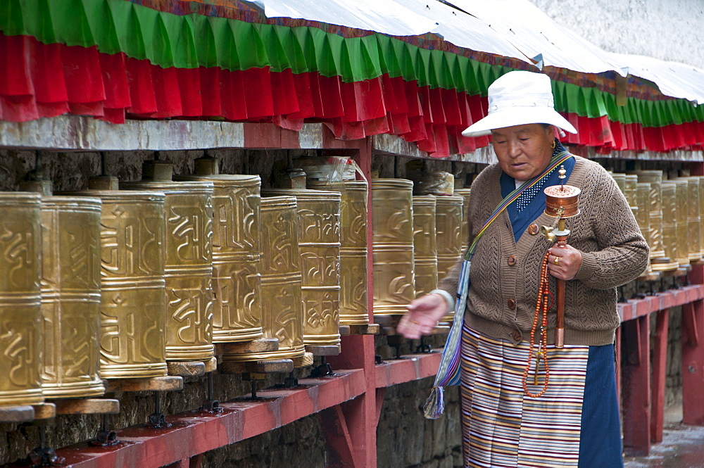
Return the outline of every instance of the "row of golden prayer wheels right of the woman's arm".
<path id="1" fill-rule="evenodd" d="M 704 257 L 703 177 L 665 179 L 660 170 L 612 174 L 650 246 L 650 269 L 677 270 Z"/>

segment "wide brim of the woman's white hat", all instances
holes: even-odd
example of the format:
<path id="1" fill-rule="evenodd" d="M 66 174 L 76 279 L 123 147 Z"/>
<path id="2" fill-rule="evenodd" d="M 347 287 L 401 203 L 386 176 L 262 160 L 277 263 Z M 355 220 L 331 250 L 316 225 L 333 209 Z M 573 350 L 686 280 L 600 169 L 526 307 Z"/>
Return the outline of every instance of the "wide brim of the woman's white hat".
<path id="1" fill-rule="evenodd" d="M 463 137 L 484 137 L 497 128 L 531 123 L 546 123 L 560 127 L 566 132 L 577 133 L 577 129 L 552 108 L 511 107 L 496 110 L 482 120 L 474 122 L 462 132 L 462 135 Z"/>

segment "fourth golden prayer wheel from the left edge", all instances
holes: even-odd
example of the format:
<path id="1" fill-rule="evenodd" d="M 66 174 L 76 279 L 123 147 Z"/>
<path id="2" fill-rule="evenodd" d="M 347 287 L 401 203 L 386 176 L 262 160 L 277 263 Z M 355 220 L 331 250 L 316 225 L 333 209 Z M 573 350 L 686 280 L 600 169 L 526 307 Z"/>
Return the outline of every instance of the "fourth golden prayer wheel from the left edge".
<path id="1" fill-rule="evenodd" d="M 210 360 L 213 349 L 213 183 L 174 182 L 172 165 L 145 161 L 120 189 L 165 195 L 166 360 Z"/>

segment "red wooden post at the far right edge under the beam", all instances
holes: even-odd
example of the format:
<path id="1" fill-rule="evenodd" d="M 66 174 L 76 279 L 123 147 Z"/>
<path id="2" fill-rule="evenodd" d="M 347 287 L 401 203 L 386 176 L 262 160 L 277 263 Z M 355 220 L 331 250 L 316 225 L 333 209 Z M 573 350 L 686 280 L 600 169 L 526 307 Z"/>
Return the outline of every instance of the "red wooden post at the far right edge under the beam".
<path id="1" fill-rule="evenodd" d="M 682 306 L 682 421 L 704 426 L 704 301 Z"/>

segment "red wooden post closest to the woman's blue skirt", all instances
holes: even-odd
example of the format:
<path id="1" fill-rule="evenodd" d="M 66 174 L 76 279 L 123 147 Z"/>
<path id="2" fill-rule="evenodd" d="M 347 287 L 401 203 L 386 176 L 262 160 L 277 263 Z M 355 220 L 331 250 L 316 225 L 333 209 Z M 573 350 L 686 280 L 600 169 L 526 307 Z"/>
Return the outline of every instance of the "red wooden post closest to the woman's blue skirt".
<path id="1" fill-rule="evenodd" d="M 628 455 L 650 453 L 650 317 L 624 322 L 623 445 Z"/>

